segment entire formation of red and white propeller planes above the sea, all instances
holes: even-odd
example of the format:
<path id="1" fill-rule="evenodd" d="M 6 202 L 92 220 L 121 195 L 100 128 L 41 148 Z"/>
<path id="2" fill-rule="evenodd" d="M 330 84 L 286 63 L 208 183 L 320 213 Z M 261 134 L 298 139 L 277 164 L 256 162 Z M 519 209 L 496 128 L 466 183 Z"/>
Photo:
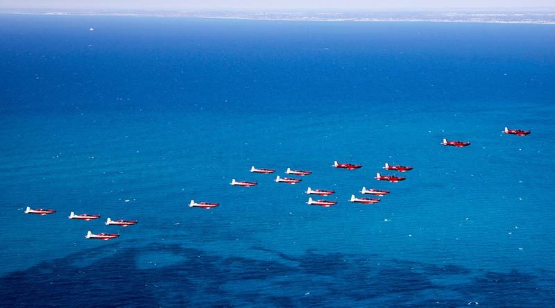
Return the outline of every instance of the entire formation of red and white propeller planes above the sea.
<path id="1" fill-rule="evenodd" d="M 505 127 L 504 130 L 502 130 L 502 132 L 504 134 L 507 135 L 517 135 L 517 136 L 526 136 L 529 135 L 531 133 L 530 130 L 510 130 L 509 128 Z M 457 148 L 463 148 L 466 146 L 470 146 L 470 142 L 461 142 L 461 141 L 448 141 L 447 139 L 443 139 L 443 142 L 441 142 L 441 144 L 443 144 L 443 146 L 455 146 Z M 334 161 L 334 164 L 332 164 L 332 166 L 334 168 L 337 169 L 347 169 L 347 170 L 355 170 L 355 169 L 360 169 L 362 168 L 361 164 L 351 164 L 351 163 L 339 163 L 337 161 Z M 412 166 L 402 166 L 402 165 L 390 165 L 387 162 L 384 164 L 384 166 L 382 167 L 382 169 L 386 170 L 386 171 L 398 171 L 400 173 L 405 173 L 407 171 L 411 171 L 413 169 Z M 251 173 L 262 173 L 262 174 L 270 174 L 270 173 L 275 173 L 275 169 L 257 169 L 255 168 L 255 166 L 251 166 L 250 168 L 250 172 Z M 311 171 L 305 171 L 305 170 L 293 170 L 291 168 L 287 168 L 287 170 L 285 171 L 285 173 L 287 175 L 291 175 L 291 176 L 309 176 L 312 172 Z M 375 176 L 375 180 L 379 180 L 379 181 L 386 181 L 386 182 L 392 182 L 392 183 L 397 183 L 403 180 L 406 180 L 407 178 L 404 178 L 402 176 L 394 176 L 394 175 L 382 175 L 381 173 L 377 172 L 376 176 Z M 302 182 L 301 178 L 281 178 L 280 176 L 276 176 L 274 182 L 278 182 L 278 183 L 285 183 L 285 184 L 289 184 L 289 185 L 296 185 L 300 182 Z M 239 186 L 239 187 L 253 187 L 258 185 L 258 182 L 249 182 L 249 181 L 237 181 L 235 179 L 232 179 L 232 181 L 230 182 L 230 185 L 232 186 Z M 363 195 L 372 195 L 372 196 L 378 196 L 378 197 L 383 197 L 386 196 L 388 194 L 390 194 L 391 191 L 388 190 L 382 190 L 382 189 L 374 189 L 374 188 L 370 188 L 367 189 L 366 186 L 363 186 L 361 191 L 359 191 L 361 194 Z M 307 191 L 305 191 L 305 194 L 307 195 L 315 195 L 318 197 L 325 197 L 325 196 L 331 196 L 332 194 L 335 194 L 335 191 L 333 190 L 327 190 L 327 189 L 311 189 L 311 187 L 307 188 Z M 369 205 L 369 204 L 376 204 L 379 203 L 381 201 L 381 199 L 379 198 L 358 198 L 357 196 L 355 196 L 355 194 L 351 194 L 350 199 L 348 199 L 348 201 L 350 203 L 361 203 L 361 204 L 365 204 L 365 205 Z M 333 205 L 336 205 L 338 203 L 338 201 L 336 200 L 324 200 L 324 199 L 318 199 L 318 200 L 314 200 L 311 196 L 309 196 L 308 200 L 307 200 L 307 205 L 317 205 L 317 206 L 321 206 L 321 207 L 332 207 Z M 191 200 L 191 202 L 189 203 L 189 207 L 198 207 L 198 208 L 202 208 L 202 209 L 214 209 L 216 207 L 219 207 L 219 203 L 210 203 L 210 202 L 205 202 L 205 201 L 201 201 L 201 202 L 195 202 L 194 200 Z M 46 215 L 50 215 L 50 214 L 55 214 L 56 213 L 56 209 L 43 209 L 43 208 L 38 208 L 38 209 L 31 209 L 31 207 L 26 207 L 25 214 L 35 214 L 35 215 L 40 215 L 40 216 L 46 216 Z M 81 220 L 81 221 L 92 221 L 95 219 L 99 219 L 101 218 L 101 216 L 99 214 L 75 214 L 74 212 L 70 212 L 68 219 L 76 219 L 76 220 Z M 137 221 L 135 220 L 125 220 L 125 219 L 118 219 L 113 221 L 112 219 L 110 219 L 110 217 L 108 217 L 108 219 L 106 220 L 106 222 L 104 223 L 105 225 L 117 225 L 120 227 L 128 227 L 130 225 L 136 225 Z M 108 241 L 110 239 L 115 239 L 119 237 L 119 233 L 92 233 L 92 231 L 88 231 L 87 234 L 85 235 L 86 239 L 101 239 L 103 241 Z"/>

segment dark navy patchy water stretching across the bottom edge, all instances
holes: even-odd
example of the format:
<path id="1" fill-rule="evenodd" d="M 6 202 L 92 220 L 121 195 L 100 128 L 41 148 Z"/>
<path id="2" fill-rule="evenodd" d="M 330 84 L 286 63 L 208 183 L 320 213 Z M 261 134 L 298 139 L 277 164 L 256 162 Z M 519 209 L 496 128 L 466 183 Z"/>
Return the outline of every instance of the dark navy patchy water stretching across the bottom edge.
<path id="1" fill-rule="evenodd" d="M 455 307 L 479 302 L 538 307 L 555 302 L 549 283 L 553 278 L 530 273 L 471 271 L 454 264 L 380 260 L 375 255 L 308 250 L 289 256 L 267 248 L 255 249 L 298 265 L 279 259 L 214 255 L 177 244 L 104 246 L 1 277 L 0 305 Z M 157 254 L 178 257 L 169 266 L 137 265 L 144 255 Z M 87 262 L 91 258 L 94 261 Z M 443 283 L 450 276 L 464 276 L 469 282 Z"/>

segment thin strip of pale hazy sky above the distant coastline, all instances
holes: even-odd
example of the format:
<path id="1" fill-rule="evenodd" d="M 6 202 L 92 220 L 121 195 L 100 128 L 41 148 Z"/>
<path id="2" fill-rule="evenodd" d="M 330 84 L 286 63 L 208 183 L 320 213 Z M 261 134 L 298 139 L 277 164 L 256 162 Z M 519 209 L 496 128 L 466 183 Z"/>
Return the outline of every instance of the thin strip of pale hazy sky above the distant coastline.
<path id="1" fill-rule="evenodd" d="M 372 10 L 555 8 L 555 0 L 0 0 L 0 8 L 130 10 Z"/>

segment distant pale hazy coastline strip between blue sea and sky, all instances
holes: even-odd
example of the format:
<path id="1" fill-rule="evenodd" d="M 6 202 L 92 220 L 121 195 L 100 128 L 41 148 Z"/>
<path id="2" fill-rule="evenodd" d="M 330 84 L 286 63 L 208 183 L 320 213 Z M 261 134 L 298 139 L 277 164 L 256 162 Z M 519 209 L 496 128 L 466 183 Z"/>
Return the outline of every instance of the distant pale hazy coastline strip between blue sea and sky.
<path id="1" fill-rule="evenodd" d="M 253 19 L 312 22 L 472 22 L 495 24 L 555 24 L 555 10 L 428 11 L 428 12 L 219 12 L 219 11 L 67 11 L 1 9 L 0 14 Z"/>

